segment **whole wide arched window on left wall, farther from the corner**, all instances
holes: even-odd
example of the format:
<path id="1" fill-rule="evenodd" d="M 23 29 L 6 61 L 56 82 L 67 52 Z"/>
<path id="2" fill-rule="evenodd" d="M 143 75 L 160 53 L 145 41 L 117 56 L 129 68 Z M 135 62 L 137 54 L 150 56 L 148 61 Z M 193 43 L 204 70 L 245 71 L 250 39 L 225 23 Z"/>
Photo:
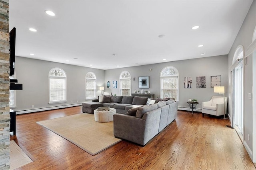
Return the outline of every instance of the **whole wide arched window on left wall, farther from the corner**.
<path id="1" fill-rule="evenodd" d="M 67 77 L 61 68 L 52 68 L 49 72 L 49 104 L 66 102 Z"/>

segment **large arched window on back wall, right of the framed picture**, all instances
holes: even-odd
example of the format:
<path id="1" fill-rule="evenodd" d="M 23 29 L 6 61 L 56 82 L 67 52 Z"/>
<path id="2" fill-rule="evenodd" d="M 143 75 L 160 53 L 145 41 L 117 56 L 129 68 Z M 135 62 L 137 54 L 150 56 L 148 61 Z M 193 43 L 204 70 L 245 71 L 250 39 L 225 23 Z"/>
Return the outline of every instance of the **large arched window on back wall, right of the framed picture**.
<path id="1" fill-rule="evenodd" d="M 178 70 L 173 66 L 162 69 L 160 73 L 160 98 L 175 98 L 178 96 Z"/>

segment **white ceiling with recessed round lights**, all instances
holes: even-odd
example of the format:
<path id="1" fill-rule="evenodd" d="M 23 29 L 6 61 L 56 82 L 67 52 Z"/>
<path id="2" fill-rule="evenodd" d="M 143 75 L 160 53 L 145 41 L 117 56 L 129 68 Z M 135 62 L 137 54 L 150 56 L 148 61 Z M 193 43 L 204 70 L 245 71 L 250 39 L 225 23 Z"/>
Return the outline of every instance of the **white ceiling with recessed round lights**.
<path id="1" fill-rule="evenodd" d="M 10 0 L 9 20 L 16 56 L 108 70 L 226 55 L 252 1 Z"/>

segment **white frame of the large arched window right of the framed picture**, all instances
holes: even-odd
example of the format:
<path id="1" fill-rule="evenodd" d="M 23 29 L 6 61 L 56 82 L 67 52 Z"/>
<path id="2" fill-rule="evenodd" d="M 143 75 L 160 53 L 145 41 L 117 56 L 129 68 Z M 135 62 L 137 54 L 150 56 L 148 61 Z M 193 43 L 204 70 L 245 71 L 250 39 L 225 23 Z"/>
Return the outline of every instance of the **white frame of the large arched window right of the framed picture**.
<path id="1" fill-rule="evenodd" d="M 176 74 L 172 74 L 172 75 L 163 75 L 164 71 L 166 69 L 172 69 L 174 70 L 174 72 L 176 72 Z M 177 88 L 176 89 L 169 89 L 169 90 L 176 90 L 176 96 L 177 98 L 175 98 L 175 100 L 179 100 L 179 72 L 177 70 L 177 68 L 175 68 L 174 66 L 166 66 L 164 67 L 161 72 L 160 72 L 160 98 L 163 98 L 163 90 L 166 90 L 166 89 L 163 89 L 163 80 L 164 79 L 168 79 L 168 78 L 176 78 L 176 82 L 177 82 Z"/>

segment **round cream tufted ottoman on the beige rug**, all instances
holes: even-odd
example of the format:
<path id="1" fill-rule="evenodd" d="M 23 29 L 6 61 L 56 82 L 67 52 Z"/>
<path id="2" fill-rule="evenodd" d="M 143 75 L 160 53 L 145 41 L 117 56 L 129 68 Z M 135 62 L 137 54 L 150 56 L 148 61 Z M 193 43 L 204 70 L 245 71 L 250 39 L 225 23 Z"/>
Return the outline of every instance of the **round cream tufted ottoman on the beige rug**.
<path id="1" fill-rule="evenodd" d="M 113 121 L 113 115 L 116 114 L 116 109 L 109 108 L 109 110 L 98 111 L 94 110 L 94 119 L 97 122 L 110 122 Z"/>

